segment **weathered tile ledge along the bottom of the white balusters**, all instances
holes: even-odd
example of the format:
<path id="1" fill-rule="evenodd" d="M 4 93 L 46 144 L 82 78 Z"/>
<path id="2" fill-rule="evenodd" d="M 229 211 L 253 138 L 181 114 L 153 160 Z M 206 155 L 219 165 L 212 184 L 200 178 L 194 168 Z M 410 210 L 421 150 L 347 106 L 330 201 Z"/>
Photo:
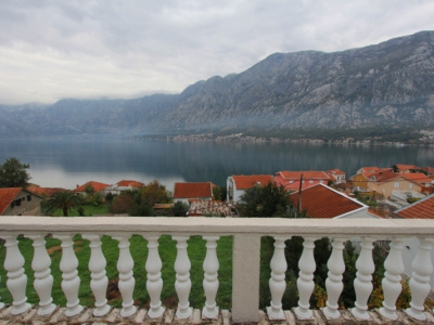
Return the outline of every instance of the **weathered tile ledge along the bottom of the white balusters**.
<path id="1" fill-rule="evenodd" d="M 37 308 L 29 309 L 26 313 L 20 315 L 11 314 L 12 307 L 5 307 L 0 310 L 0 324 L 207 324 L 207 325 L 230 325 L 230 324 L 434 324 L 434 314 L 432 312 L 424 312 L 426 320 L 416 321 L 409 316 L 405 311 L 397 311 L 398 320 L 391 323 L 391 320 L 384 318 L 378 310 L 369 311 L 369 320 L 356 318 L 349 310 L 341 310 L 339 318 L 329 318 L 322 310 L 314 310 L 312 317 L 309 320 L 298 320 L 294 310 L 284 311 L 283 320 L 270 320 L 268 314 L 261 310 L 258 311 L 257 323 L 237 323 L 232 321 L 230 311 L 221 310 L 215 320 L 209 320 L 203 316 L 202 311 L 194 309 L 192 315 L 187 320 L 179 320 L 176 317 L 176 310 L 167 309 L 164 314 L 158 318 L 150 318 L 146 309 L 139 309 L 133 315 L 129 317 L 122 317 L 120 310 L 113 308 L 107 315 L 103 317 L 94 317 L 93 309 L 85 309 L 80 314 L 74 317 L 65 315 L 66 308 L 58 308 L 52 314 L 48 316 L 39 316 Z"/>

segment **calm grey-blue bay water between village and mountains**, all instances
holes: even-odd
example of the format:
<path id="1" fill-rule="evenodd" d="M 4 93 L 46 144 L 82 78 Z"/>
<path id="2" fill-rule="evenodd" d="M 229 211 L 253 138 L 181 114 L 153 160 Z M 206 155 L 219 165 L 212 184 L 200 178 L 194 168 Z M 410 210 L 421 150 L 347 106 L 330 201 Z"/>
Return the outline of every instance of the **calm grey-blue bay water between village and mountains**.
<path id="1" fill-rule="evenodd" d="M 0 164 L 16 157 L 30 165 L 30 182 L 74 188 L 90 180 L 158 180 L 226 185 L 231 174 L 340 168 L 347 178 L 362 166 L 416 164 L 434 167 L 434 147 L 336 146 L 284 143 L 188 143 L 113 139 L 0 140 Z"/>

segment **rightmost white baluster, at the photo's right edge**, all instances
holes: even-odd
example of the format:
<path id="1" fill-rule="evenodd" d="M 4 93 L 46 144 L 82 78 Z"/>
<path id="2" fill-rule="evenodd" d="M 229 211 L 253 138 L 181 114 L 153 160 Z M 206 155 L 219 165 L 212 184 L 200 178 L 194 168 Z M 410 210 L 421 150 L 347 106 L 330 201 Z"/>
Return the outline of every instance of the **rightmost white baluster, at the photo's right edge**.
<path id="1" fill-rule="evenodd" d="M 423 303 L 431 291 L 430 275 L 433 273 L 431 261 L 431 250 L 433 249 L 434 238 L 419 238 L 419 250 L 414 260 L 411 262 L 411 278 L 409 282 L 411 290 L 410 308 L 406 313 L 418 321 L 425 321 Z"/>

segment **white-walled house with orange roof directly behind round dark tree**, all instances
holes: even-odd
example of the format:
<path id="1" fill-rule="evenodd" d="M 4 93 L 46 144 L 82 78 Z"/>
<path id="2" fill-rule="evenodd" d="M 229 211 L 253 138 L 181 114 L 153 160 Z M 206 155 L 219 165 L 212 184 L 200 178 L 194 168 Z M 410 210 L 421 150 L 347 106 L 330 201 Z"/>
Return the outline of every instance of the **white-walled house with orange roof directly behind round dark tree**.
<path id="1" fill-rule="evenodd" d="M 237 204 L 245 190 L 252 188 L 255 185 L 266 186 L 268 183 L 275 182 L 270 174 L 251 174 L 251 176 L 231 176 L 226 181 L 227 186 L 227 203 Z"/>

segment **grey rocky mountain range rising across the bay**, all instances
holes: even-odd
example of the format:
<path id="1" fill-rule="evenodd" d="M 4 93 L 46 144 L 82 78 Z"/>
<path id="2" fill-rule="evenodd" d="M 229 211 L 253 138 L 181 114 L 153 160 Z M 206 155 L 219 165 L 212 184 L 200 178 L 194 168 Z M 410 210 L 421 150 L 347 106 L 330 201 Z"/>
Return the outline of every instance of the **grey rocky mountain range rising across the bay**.
<path id="1" fill-rule="evenodd" d="M 276 53 L 182 93 L 0 106 L 0 135 L 434 127 L 434 31 L 366 48 Z"/>

